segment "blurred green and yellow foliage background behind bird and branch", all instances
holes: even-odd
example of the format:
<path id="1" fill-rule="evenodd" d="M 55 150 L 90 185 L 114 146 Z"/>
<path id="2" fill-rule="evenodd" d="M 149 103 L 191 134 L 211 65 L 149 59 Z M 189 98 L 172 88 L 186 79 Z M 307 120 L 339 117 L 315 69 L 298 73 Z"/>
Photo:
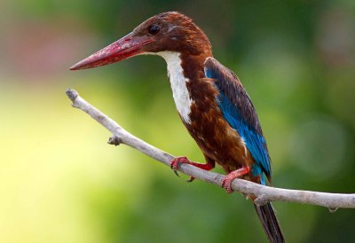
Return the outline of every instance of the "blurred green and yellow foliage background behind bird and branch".
<path id="1" fill-rule="evenodd" d="M 70 107 L 78 90 L 149 143 L 203 157 L 157 57 L 68 67 L 165 11 L 193 17 L 254 100 L 273 183 L 354 192 L 355 2 L 3 1 L 0 242 L 265 242 L 251 203 L 185 184 Z M 217 171 L 221 171 L 220 169 Z M 351 242 L 355 212 L 274 203 L 288 242 Z"/>

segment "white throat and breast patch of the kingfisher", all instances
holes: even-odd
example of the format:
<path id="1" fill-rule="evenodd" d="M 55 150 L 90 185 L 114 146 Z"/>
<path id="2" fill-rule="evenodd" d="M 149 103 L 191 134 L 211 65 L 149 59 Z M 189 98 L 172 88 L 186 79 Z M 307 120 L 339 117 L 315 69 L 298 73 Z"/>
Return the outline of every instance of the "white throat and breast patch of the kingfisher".
<path id="1" fill-rule="evenodd" d="M 170 80 L 172 96 L 177 106 L 177 112 L 186 123 L 190 123 L 191 104 L 193 100 L 190 98 L 186 87 L 189 79 L 185 78 L 184 70 L 181 67 L 180 53 L 173 51 L 162 51 L 156 53 L 165 59 L 168 64 L 168 76 Z"/>

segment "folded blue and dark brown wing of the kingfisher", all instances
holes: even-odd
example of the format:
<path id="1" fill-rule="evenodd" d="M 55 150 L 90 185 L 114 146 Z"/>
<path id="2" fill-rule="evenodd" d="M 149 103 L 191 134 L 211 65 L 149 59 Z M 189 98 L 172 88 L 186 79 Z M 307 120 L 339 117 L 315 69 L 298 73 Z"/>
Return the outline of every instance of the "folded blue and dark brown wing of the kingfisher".
<path id="1" fill-rule="evenodd" d="M 216 59 L 206 59 L 204 70 L 207 78 L 215 80 L 215 86 L 219 91 L 218 105 L 225 120 L 238 131 L 256 161 L 252 173 L 261 176 L 264 172 L 270 178 L 270 156 L 256 110 L 247 91 L 244 90 L 238 77 Z"/>

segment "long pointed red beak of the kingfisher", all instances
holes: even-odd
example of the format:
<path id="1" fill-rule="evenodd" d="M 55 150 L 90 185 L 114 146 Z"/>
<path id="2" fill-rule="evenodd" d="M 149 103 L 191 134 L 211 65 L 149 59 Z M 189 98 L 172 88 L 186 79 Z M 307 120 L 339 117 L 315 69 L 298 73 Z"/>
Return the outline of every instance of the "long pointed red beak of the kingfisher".
<path id="1" fill-rule="evenodd" d="M 132 36 L 130 33 L 120 40 L 106 46 L 104 49 L 92 54 L 89 58 L 76 63 L 70 70 L 80 70 L 92 67 L 105 66 L 122 59 L 128 59 L 142 53 L 142 47 L 154 42 L 150 36 Z"/>

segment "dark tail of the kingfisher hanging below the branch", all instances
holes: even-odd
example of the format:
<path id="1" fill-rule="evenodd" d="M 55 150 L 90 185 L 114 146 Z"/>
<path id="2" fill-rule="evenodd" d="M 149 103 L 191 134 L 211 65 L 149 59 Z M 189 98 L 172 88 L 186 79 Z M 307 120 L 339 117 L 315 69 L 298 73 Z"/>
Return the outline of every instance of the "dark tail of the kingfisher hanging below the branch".
<path id="1" fill-rule="evenodd" d="M 256 204 L 254 204 L 254 208 L 256 208 L 257 216 L 259 216 L 261 223 L 263 223 L 264 231 L 266 232 L 270 242 L 286 242 L 283 237 L 280 224 L 276 218 L 275 212 L 273 211 L 272 204 L 270 202 L 266 203 L 263 206 L 257 206 Z"/>

